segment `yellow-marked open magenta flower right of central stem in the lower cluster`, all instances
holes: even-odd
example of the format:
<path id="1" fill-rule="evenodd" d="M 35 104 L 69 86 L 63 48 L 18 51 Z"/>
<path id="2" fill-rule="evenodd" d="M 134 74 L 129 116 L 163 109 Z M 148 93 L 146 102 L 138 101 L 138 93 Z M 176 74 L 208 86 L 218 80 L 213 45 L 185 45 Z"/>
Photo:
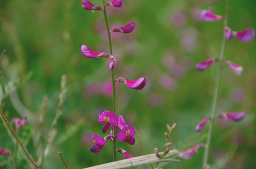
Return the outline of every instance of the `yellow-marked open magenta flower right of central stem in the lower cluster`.
<path id="1" fill-rule="evenodd" d="M 135 138 L 133 137 L 135 134 L 135 130 L 131 125 L 127 125 L 123 130 L 120 130 L 117 134 L 117 138 L 120 142 L 126 142 L 130 145 L 134 145 Z"/>

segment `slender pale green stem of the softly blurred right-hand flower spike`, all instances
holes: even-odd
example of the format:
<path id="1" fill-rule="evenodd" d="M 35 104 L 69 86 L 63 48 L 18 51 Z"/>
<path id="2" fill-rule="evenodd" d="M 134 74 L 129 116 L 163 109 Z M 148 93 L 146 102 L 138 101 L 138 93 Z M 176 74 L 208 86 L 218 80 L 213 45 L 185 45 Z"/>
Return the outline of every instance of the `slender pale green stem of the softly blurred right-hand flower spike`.
<path id="1" fill-rule="evenodd" d="M 225 26 L 227 26 L 228 14 L 229 14 L 229 0 L 227 0 L 226 16 L 225 16 L 225 20 L 223 21 L 224 27 L 223 27 L 223 38 L 222 38 L 221 51 L 220 51 L 220 65 L 219 65 L 219 71 L 218 71 L 218 76 L 217 76 L 217 80 L 216 80 L 216 89 L 215 89 L 215 92 L 214 92 L 212 110 L 211 110 L 211 115 L 210 115 L 213 120 L 209 121 L 209 123 L 210 123 L 209 126 L 210 127 L 209 127 L 208 137 L 207 137 L 207 140 L 206 140 L 206 146 L 205 146 L 205 151 L 204 151 L 202 169 L 205 169 L 205 166 L 206 166 L 207 161 L 208 161 L 208 156 L 209 156 L 209 148 L 210 148 L 210 144 L 211 144 L 211 137 L 212 137 L 212 131 L 213 131 L 213 125 L 214 125 L 214 116 L 215 116 L 215 111 L 216 111 L 216 103 L 217 103 L 220 81 L 221 81 L 221 75 L 222 75 L 222 68 L 223 68 L 223 57 L 224 57 L 225 42 L 226 42 Z"/>

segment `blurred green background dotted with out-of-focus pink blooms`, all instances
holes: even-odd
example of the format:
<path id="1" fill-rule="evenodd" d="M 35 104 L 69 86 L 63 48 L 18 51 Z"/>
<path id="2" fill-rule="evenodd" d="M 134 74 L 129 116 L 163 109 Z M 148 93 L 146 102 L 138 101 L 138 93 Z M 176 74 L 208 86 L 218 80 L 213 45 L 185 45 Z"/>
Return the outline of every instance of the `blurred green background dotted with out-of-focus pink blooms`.
<path id="1" fill-rule="evenodd" d="M 218 64 L 204 72 L 198 72 L 195 64 L 220 53 L 223 23 L 202 22 L 199 15 L 212 6 L 215 14 L 224 16 L 226 1 L 213 1 L 123 0 L 121 8 L 107 7 L 110 29 L 135 22 L 131 33 L 111 34 L 115 73 L 116 78 L 145 77 L 147 84 L 141 91 L 117 84 L 116 112 L 136 127 L 148 153 L 155 147 L 163 150 L 166 123 L 177 123 L 170 137 L 173 149 L 182 151 L 206 139 L 207 129 L 196 133 L 194 128 L 210 114 Z M 102 5 L 101 0 L 91 3 Z M 233 31 L 256 28 L 255 5 L 254 0 L 231 0 L 228 26 Z M 81 0 L 0 0 L 0 52 L 7 49 L 0 61 L 0 84 L 8 92 L 1 108 L 12 126 L 12 117 L 28 115 L 20 137 L 27 140 L 32 155 L 43 96 L 48 96 L 48 106 L 42 142 L 58 108 L 61 76 L 67 77 L 63 115 L 43 169 L 64 168 L 59 151 L 72 169 L 113 158 L 110 141 L 99 154 L 89 151 L 93 133 L 104 137 L 99 113 L 112 109 L 111 72 L 107 59 L 83 57 L 83 44 L 109 53 L 103 13 L 84 10 Z M 242 65 L 244 72 L 236 76 L 224 67 L 217 112 L 246 111 L 247 116 L 239 123 L 215 122 L 209 158 L 212 169 L 256 168 L 255 56 L 255 40 L 242 43 L 233 38 L 226 43 L 225 60 Z M 136 135 L 135 140 L 134 146 L 118 142 L 117 147 L 134 156 L 143 155 Z M 14 151 L 3 123 L 0 147 Z M 198 169 L 202 156 L 200 149 L 189 161 L 162 165 L 165 169 Z M 117 159 L 124 157 L 117 154 Z M 1 161 L 8 162 L 3 168 L 13 167 L 8 157 L 0 156 Z M 28 168 L 22 157 L 19 166 Z"/>

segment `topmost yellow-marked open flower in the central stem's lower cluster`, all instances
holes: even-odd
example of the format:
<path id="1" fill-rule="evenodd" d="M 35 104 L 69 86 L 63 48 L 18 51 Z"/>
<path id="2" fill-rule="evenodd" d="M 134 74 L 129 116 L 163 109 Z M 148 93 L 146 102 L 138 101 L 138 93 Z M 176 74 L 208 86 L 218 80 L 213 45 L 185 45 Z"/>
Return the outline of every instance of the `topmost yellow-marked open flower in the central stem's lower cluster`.
<path id="1" fill-rule="evenodd" d="M 103 133 L 105 133 L 110 126 L 115 126 L 117 124 L 117 117 L 112 111 L 104 110 L 99 115 L 99 123 L 105 123 L 102 128 Z"/>

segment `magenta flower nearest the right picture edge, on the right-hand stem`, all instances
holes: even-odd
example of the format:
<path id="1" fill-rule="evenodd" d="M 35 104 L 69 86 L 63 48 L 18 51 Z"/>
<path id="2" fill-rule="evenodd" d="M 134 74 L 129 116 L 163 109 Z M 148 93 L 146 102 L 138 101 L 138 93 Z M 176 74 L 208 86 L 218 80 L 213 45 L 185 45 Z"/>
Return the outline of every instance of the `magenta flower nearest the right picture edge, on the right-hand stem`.
<path id="1" fill-rule="evenodd" d="M 243 31 L 233 31 L 232 33 L 235 37 L 243 42 L 250 42 L 255 37 L 255 31 L 252 28 L 248 28 Z"/>

